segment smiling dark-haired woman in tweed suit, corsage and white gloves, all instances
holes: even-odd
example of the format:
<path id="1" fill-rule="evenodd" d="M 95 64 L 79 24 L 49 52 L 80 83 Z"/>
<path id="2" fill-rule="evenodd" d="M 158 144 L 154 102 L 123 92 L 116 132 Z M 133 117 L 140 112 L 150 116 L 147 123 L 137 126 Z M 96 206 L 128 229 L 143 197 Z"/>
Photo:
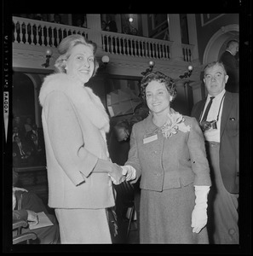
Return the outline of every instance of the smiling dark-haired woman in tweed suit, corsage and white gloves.
<path id="1" fill-rule="evenodd" d="M 208 243 L 210 169 L 204 137 L 195 118 L 170 108 L 175 83 L 147 73 L 141 94 L 150 114 L 133 126 L 126 180 L 141 187 L 141 243 Z"/>

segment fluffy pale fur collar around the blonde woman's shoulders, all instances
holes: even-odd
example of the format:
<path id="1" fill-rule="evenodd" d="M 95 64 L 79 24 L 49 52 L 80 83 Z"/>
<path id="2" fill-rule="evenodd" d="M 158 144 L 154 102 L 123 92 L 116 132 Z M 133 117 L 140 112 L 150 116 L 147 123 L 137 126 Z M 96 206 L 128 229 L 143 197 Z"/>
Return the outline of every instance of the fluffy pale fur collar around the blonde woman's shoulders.
<path id="1" fill-rule="evenodd" d="M 89 118 L 98 129 L 109 131 L 109 117 L 101 99 L 95 95 L 92 89 L 66 73 L 51 74 L 44 79 L 39 93 L 39 102 L 42 107 L 46 97 L 54 90 L 60 90 L 69 96 L 78 109 L 78 113 L 84 113 L 85 117 Z"/>

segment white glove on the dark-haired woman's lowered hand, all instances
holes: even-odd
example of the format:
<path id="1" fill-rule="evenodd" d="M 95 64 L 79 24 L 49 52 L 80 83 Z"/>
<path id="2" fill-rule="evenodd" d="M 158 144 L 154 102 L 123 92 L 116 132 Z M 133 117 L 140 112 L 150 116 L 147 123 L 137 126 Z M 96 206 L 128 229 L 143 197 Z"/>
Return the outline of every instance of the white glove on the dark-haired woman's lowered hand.
<path id="1" fill-rule="evenodd" d="M 210 186 L 194 186 L 195 187 L 195 207 L 192 213 L 193 233 L 199 233 L 207 223 L 207 195 Z"/>

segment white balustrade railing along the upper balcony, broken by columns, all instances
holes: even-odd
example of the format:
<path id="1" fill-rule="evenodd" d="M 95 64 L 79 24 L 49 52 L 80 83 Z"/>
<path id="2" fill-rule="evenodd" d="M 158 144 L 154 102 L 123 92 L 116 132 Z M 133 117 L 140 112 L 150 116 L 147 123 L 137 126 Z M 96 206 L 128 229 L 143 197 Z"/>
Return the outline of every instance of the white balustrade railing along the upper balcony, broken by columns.
<path id="1" fill-rule="evenodd" d="M 13 43 L 37 46 L 57 47 L 62 38 L 71 34 L 81 34 L 89 39 L 90 29 L 66 26 L 41 20 L 13 17 Z M 105 52 L 112 55 L 124 55 L 170 60 L 173 42 L 154 38 L 98 31 L 101 33 L 101 45 Z M 181 44 L 183 61 L 192 61 L 193 45 Z"/>

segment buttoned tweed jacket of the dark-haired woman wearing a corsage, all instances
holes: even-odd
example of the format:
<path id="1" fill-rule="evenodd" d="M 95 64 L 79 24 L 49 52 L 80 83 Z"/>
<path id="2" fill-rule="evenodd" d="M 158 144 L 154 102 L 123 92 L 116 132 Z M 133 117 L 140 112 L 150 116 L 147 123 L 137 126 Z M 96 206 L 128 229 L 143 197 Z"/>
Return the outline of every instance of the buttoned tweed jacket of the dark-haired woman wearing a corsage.
<path id="1" fill-rule="evenodd" d="M 158 126 L 153 124 L 152 114 L 133 126 L 129 159 L 125 165 L 135 168 L 135 181 L 141 177 L 141 189 L 162 191 L 190 183 L 211 185 L 202 131 L 196 119 L 184 118 L 190 131 L 178 131 L 169 138 L 164 138 Z M 158 139 L 144 143 L 144 138 L 156 134 Z"/>

